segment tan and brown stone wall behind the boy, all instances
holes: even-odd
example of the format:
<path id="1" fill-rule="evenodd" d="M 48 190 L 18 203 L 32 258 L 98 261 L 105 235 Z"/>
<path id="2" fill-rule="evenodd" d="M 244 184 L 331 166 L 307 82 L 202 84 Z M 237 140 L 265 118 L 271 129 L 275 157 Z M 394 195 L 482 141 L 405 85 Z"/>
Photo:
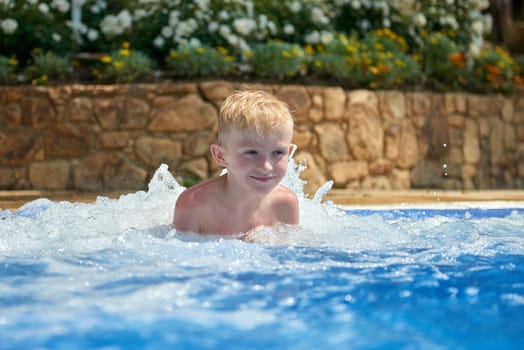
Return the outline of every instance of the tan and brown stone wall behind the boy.
<path id="1" fill-rule="evenodd" d="M 286 101 L 309 191 L 524 188 L 524 94 L 252 85 Z M 144 189 L 155 169 L 217 173 L 226 81 L 0 87 L 0 190 Z"/>

